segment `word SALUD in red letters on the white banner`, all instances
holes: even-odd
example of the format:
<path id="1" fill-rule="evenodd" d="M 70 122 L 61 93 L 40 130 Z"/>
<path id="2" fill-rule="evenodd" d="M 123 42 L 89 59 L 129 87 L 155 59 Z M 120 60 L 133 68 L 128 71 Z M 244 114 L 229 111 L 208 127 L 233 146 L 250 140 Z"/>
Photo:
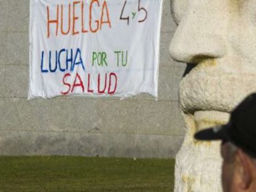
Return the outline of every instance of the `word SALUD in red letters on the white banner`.
<path id="1" fill-rule="evenodd" d="M 62 78 L 62 83 L 65 85 L 64 91 L 61 94 L 66 95 L 70 93 L 74 93 L 77 91 L 79 93 L 93 93 L 93 94 L 109 94 L 113 95 L 116 93 L 117 89 L 117 75 L 116 73 L 105 73 L 102 75 L 98 73 L 97 85 L 96 89 L 93 90 L 91 87 L 92 84 L 92 77 L 90 73 L 87 75 L 81 76 L 79 73 L 76 73 L 75 78 L 72 82 L 70 82 L 70 73 L 66 73 Z M 102 79 L 101 79 L 102 78 Z M 101 83 L 104 80 L 104 83 Z"/>

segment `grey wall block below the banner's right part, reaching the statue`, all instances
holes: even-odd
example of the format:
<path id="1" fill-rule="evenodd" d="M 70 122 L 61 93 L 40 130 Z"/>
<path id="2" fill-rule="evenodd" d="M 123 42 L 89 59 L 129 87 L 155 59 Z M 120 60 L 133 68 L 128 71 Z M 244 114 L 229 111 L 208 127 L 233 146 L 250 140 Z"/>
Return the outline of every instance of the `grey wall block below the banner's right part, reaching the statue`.
<path id="1" fill-rule="evenodd" d="M 101 100 L 97 104 L 98 129 L 104 133 L 183 135 L 179 123 L 175 124 L 181 118 L 175 101 Z"/>

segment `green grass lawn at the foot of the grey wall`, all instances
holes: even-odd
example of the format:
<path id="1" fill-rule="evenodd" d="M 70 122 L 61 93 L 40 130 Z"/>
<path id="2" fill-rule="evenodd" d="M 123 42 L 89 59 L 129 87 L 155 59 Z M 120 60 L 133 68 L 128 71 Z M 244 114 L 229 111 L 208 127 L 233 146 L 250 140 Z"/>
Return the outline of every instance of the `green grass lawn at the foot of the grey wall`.
<path id="1" fill-rule="evenodd" d="M 0 191 L 173 191 L 174 159 L 0 157 Z"/>

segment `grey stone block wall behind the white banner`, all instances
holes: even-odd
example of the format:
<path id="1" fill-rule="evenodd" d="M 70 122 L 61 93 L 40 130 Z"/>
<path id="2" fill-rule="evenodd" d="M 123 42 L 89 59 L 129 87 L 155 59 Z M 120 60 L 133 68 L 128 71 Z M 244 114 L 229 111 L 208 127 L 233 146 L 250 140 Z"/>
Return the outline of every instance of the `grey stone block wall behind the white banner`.
<path id="1" fill-rule="evenodd" d="M 185 65 L 168 46 L 176 28 L 164 0 L 159 100 L 27 101 L 28 0 L 0 0 L 0 155 L 174 157 L 184 138 L 178 87 Z"/>

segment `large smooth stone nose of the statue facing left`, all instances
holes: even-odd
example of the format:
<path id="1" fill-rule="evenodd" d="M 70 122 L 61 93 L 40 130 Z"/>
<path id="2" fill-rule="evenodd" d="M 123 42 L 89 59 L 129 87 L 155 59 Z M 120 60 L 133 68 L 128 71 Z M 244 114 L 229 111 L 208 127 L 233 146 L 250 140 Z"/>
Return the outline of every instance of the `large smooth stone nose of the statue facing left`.
<path id="1" fill-rule="evenodd" d="M 218 22 L 204 22 L 200 25 L 198 17 L 193 19 L 193 16 L 181 20 L 169 46 L 171 57 L 176 61 L 192 64 L 203 59 L 223 57 L 226 54 L 224 30 L 221 25 L 218 30 L 217 26 Z"/>

